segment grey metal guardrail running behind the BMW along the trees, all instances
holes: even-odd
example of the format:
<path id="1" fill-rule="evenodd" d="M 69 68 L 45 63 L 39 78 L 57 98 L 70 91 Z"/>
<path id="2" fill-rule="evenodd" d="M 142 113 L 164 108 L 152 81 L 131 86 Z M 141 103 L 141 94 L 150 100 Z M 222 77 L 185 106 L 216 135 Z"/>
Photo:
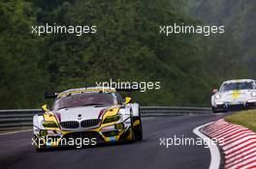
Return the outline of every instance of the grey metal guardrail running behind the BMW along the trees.
<path id="1" fill-rule="evenodd" d="M 33 115 L 41 112 L 43 112 L 41 109 L 0 110 L 0 130 L 11 127 L 32 127 Z M 208 113 L 211 113 L 211 109 L 204 107 L 141 106 L 142 117 Z"/>

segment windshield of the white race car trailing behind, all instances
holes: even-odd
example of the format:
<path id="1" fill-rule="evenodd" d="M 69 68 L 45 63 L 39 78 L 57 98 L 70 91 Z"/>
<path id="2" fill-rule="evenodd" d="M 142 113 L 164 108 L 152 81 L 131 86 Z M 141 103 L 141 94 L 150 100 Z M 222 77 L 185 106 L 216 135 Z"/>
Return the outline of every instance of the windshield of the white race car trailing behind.
<path id="1" fill-rule="evenodd" d="M 228 92 L 234 90 L 252 90 L 252 82 L 226 83 L 222 86 L 220 92 Z"/>

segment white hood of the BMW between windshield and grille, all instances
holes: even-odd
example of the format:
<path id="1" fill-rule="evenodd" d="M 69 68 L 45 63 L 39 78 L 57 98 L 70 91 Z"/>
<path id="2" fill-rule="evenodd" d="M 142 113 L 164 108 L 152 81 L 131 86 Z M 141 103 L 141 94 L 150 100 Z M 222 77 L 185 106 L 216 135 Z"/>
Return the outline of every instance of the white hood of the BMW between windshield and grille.
<path id="1" fill-rule="evenodd" d="M 59 122 L 66 121 L 83 121 L 88 119 L 100 119 L 102 114 L 107 110 L 109 106 L 82 106 L 82 107 L 70 107 L 63 108 L 54 111 Z"/>

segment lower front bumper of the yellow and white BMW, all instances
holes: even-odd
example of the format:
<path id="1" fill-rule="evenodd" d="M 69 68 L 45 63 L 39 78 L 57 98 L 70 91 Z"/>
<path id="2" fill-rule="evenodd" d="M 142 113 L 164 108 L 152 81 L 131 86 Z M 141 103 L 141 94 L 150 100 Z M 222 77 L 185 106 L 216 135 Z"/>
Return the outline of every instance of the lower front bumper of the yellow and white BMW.
<path id="1" fill-rule="evenodd" d="M 116 128 L 116 125 L 122 126 Z M 42 131 L 47 133 L 42 135 Z M 132 128 L 129 122 L 108 124 L 101 127 L 82 131 L 62 131 L 59 128 L 34 128 L 33 143 L 36 148 L 54 147 L 86 147 L 103 143 L 129 141 L 133 139 Z"/>

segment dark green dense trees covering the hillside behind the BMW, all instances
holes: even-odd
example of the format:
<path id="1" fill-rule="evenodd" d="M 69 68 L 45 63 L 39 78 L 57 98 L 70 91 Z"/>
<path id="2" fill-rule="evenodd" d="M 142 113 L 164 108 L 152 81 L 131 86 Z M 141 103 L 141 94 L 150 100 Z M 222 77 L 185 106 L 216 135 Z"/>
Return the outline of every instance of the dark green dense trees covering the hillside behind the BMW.
<path id="1" fill-rule="evenodd" d="M 207 15 L 215 4 L 206 5 L 202 1 L 189 9 L 195 15 L 197 9 L 204 9 L 197 15 Z M 123 94 L 142 105 L 208 106 L 211 89 L 223 80 L 250 77 L 241 60 L 245 45 L 240 41 L 254 34 L 241 29 L 234 37 L 238 25 L 221 36 L 160 36 L 159 24 L 197 23 L 182 9 L 181 0 L 1 1 L 0 108 L 40 107 L 47 91 L 94 86 L 110 79 L 161 82 L 161 90 Z M 202 19 L 218 21 L 217 15 L 226 11 L 217 10 Z M 223 19 L 233 25 L 232 18 Z M 97 34 L 31 34 L 31 26 L 47 24 L 96 25 Z M 247 42 L 249 59 L 252 42 Z"/>

